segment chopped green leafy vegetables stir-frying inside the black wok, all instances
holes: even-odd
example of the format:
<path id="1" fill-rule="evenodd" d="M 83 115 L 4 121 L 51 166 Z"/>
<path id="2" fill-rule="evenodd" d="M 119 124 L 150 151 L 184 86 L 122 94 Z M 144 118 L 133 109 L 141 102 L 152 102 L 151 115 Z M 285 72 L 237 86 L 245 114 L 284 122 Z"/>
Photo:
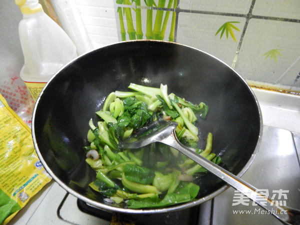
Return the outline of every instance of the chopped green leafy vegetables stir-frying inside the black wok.
<path id="1" fill-rule="evenodd" d="M 151 143 L 138 149 L 119 149 L 118 143 L 159 119 L 178 123 L 175 132 L 181 143 L 197 153 L 220 162 L 211 153 L 212 134 L 207 134 L 205 149 L 199 149 L 197 118 L 205 119 L 208 106 L 193 104 L 167 86 L 159 88 L 130 83 L 132 91 L 110 93 L 96 125 L 90 119 L 85 146 L 86 162 L 95 170 L 96 179 L 89 186 L 106 198 L 128 208 L 164 207 L 194 199 L 199 186 L 194 176 L 205 171 L 199 164 L 162 143 Z"/>

